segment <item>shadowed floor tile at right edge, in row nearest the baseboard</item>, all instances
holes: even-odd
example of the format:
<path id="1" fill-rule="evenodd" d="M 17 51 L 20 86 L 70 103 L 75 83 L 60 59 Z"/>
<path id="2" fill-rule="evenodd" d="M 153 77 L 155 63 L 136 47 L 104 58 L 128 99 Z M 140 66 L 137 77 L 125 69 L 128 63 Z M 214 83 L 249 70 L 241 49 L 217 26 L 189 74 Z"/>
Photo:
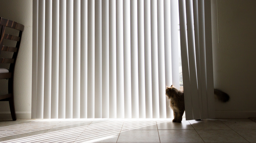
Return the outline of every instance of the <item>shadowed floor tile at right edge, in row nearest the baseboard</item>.
<path id="1" fill-rule="evenodd" d="M 253 121 L 223 121 L 233 130 L 256 130 L 256 123 Z"/>

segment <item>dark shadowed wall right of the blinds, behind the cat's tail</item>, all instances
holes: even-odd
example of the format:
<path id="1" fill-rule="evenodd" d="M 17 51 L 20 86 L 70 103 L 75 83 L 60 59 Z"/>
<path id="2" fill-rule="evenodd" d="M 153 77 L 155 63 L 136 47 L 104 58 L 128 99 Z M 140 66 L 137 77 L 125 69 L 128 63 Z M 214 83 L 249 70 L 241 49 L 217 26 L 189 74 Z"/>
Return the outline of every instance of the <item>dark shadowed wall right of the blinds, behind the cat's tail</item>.
<path id="1" fill-rule="evenodd" d="M 256 117 L 256 1 L 212 2 L 214 87 L 230 95 L 216 117 Z"/>

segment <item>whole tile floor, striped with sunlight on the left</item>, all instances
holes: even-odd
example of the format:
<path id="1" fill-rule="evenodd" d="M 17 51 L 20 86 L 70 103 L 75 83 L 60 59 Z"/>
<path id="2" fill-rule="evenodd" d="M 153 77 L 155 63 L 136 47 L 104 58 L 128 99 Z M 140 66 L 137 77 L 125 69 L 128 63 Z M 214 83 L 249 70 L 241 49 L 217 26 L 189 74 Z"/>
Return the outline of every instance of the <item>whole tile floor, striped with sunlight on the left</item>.
<path id="1" fill-rule="evenodd" d="M 255 142 L 250 119 L 29 119 L 0 120 L 4 142 Z"/>

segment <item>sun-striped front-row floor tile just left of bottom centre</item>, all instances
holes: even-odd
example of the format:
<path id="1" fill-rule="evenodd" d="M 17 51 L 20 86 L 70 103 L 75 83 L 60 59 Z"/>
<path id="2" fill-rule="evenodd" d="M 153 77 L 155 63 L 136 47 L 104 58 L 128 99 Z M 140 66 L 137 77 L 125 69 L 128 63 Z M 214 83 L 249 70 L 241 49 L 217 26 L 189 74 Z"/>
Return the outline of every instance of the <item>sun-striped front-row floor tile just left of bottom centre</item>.
<path id="1" fill-rule="evenodd" d="M 117 142 L 119 134 L 117 130 L 85 130 L 75 142 Z"/>

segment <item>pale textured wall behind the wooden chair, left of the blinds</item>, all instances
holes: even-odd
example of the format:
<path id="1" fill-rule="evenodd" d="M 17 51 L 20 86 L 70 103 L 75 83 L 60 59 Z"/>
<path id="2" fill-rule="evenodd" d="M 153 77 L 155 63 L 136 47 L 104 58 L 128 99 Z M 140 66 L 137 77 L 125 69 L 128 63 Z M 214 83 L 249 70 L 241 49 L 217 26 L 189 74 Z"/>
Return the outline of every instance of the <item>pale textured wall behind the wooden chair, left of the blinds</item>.
<path id="1" fill-rule="evenodd" d="M 14 74 L 14 104 L 18 119 L 31 118 L 32 0 L 0 0 L 0 17 L 25 25 Z M 1 80 L 0 86 L 6 86 Z M 2 88 L 2 87 L 1 87 Z M 0 94 L 3 93 L 0 90 Z M 0 102 L 0 119 L 11 119 L 8 102 Z"/>

